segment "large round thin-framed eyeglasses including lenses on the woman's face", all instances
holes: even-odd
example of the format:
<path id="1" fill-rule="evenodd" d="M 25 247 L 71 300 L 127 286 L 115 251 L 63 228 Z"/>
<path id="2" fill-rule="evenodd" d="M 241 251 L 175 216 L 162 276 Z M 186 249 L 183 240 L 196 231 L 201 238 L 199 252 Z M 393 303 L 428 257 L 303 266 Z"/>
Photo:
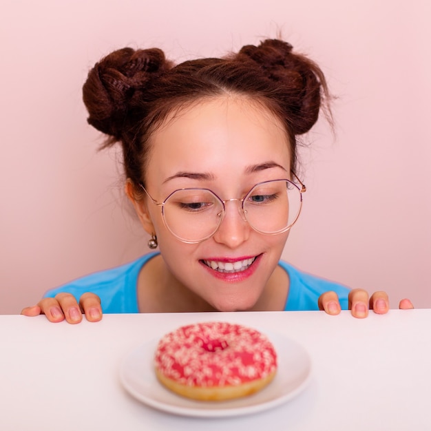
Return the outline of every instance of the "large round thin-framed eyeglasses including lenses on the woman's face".
<path id="1" fill-rule="evenodd" d="M 293 174 L 295 176 L 295 174 Z M 240 203 L 244 221 L 259 233 L 277 235 L 291 229 L 299 217 L 302 193 L 306 187 L 295 176 L 301 188 L 291 180 L 269 180 L 257 183 L 242 199 L 222 200 L 209 189 L 178 189 L 163 202 L 151 198 L 161 207 L 162 219 L 171 233 L 188 244 L 211 238 L 226 214 L 227 202 Z"/>

